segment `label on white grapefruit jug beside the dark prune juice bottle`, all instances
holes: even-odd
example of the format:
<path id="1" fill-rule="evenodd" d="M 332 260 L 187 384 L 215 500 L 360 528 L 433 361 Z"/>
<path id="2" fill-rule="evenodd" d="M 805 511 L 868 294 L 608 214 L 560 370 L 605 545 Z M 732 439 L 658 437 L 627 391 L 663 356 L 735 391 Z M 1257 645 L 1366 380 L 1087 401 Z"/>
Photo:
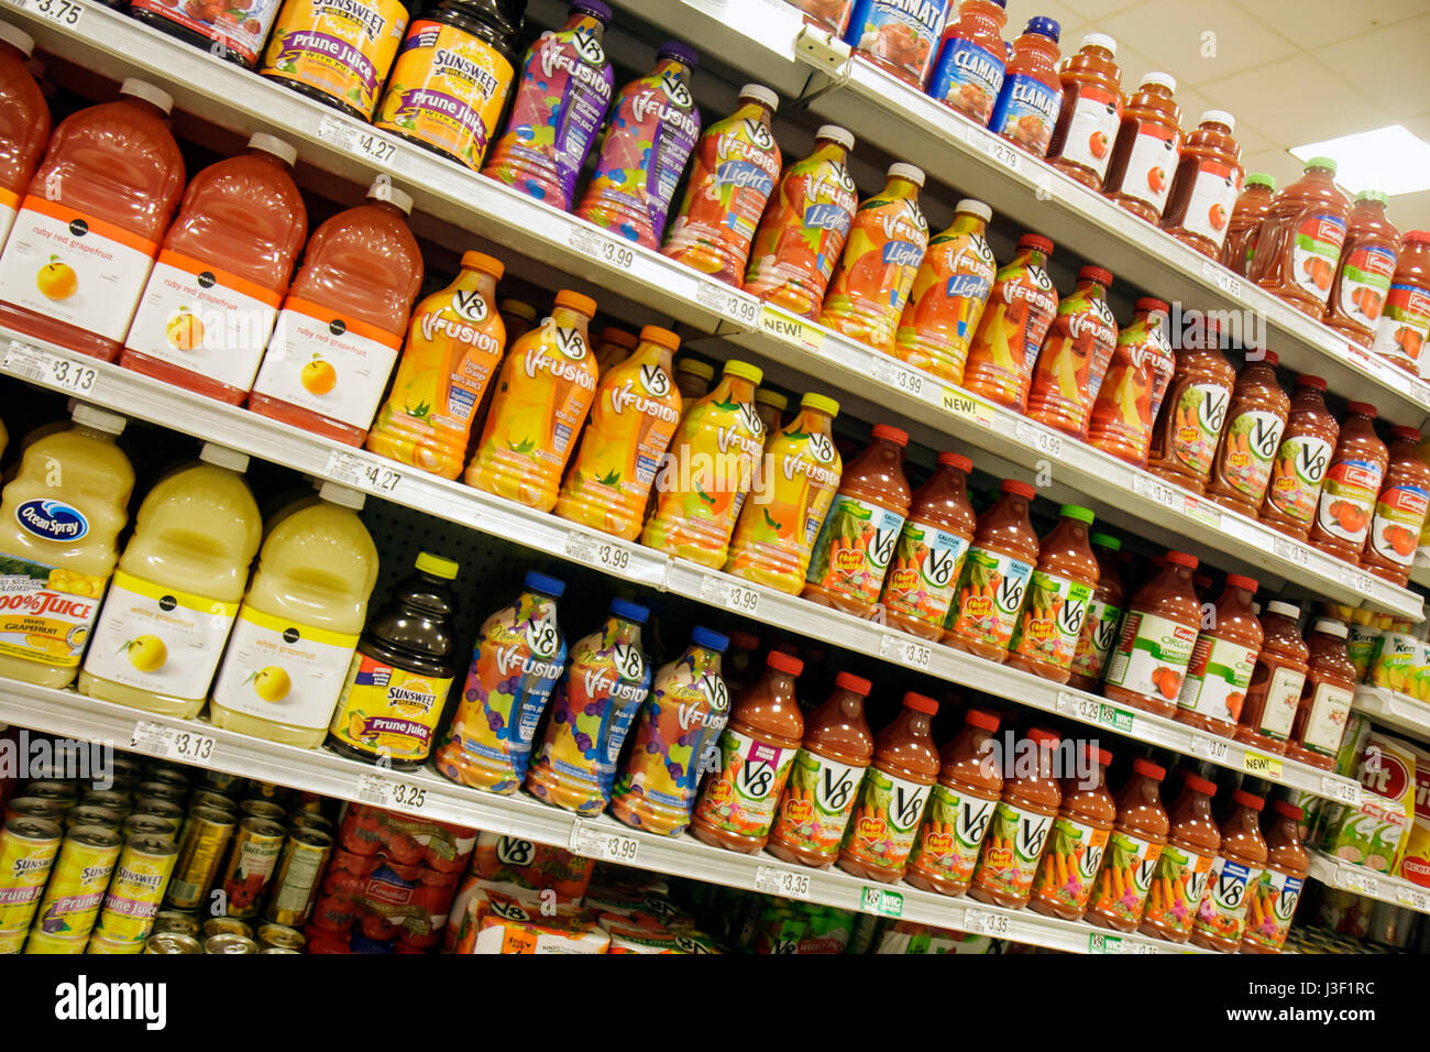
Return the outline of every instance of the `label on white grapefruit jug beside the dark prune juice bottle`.
<path id="1" fill-rule="evenodd" d="M 326 727 L 358 635 L 239 608 L 213 684 L 213 701 L 245 716 L 305 730 Z"/>

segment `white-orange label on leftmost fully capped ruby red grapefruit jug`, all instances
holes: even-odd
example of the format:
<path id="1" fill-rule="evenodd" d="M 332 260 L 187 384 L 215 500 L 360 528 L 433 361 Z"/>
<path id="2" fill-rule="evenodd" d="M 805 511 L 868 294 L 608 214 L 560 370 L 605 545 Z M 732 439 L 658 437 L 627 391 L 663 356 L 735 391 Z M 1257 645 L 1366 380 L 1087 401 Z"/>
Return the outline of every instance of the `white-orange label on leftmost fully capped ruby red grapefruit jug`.
<path id="1" fill-rule="evenodd" d="M 0 299 L 119 344 L 157 253 L 114 223 L 26 196 L 0 255 Z"/>

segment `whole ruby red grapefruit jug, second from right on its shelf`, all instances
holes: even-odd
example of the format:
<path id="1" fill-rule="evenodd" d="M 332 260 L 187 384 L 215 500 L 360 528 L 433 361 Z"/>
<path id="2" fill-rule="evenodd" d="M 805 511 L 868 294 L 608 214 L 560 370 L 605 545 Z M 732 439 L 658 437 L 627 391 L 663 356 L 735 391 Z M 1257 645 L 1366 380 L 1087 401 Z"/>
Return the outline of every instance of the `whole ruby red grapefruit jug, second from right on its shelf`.
<path id="1" fill-rule="evenodd" d="M 297 150 L 270 135 L 193 177 L 120 365 L 229 405 L 247 398 L 307 238 Z"/>

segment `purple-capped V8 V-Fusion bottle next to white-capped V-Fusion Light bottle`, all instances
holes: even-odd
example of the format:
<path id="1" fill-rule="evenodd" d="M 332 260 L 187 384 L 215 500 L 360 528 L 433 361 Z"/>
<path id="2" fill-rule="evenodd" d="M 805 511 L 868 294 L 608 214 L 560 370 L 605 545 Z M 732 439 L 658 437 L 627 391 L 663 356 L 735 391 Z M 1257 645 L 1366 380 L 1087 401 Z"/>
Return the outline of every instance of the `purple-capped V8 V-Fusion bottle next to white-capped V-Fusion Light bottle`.
<path id="1" fill-rule="evenodd" d="M 691 96 L 698 56 L 666 40 L 655 69 L 621 89 L 576 215 L 648 249 L 661 248 L 685 162 L 701 135 Z"/>

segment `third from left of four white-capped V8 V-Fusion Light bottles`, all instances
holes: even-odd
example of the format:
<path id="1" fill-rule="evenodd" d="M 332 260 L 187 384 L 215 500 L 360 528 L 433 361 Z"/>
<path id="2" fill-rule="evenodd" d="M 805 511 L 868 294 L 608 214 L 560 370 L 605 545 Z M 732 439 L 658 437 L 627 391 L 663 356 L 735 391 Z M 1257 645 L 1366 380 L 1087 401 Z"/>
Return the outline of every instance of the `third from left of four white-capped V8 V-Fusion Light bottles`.
<path id="1" fill-rule="evenodd" d="M 891 165 L 884 189 L 864 200 L 824 298 L 819 323 L 888 351 L 904 303 L 928 248 L 928 220 L 918 206 L 922 170 Z"/>

